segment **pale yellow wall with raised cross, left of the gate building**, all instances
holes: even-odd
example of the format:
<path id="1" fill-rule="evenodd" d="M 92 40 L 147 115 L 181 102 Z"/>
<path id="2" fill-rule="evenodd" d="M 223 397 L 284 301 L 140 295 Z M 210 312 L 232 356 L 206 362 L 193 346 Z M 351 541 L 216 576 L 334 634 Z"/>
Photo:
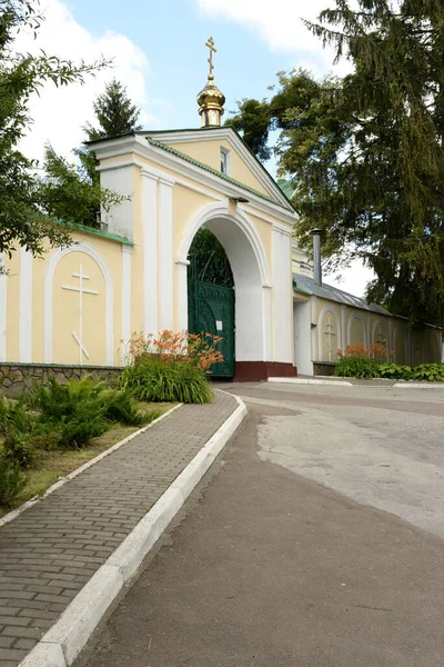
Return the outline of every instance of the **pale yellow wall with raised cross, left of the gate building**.
<path id="1" fill-rule="evenodd" d="M 102 270 L 93 257 L 82 250 L 79 243 L 87 243 L 89 248 L 100 258 L 111 276 L 109 286 L 112 295 L 112 319 L 110 319 L 112 338 L 113 365 L 120 362 L 119 347 L 121 339 L 122 321 L 122 246 L 119 242 L 101 238 L 94 233 L 75 232 L 72 237 L 73 245 L 60 256 L 53 269 L 52 282 L 49 279 L 50 267 L 53 258 L 59 257 L 60 250 L 48 249 L 40 259 L 32 260 L 32 289 L 28 295 L 27 303 L 31 308 L 31 348 L 27 359 L 20 358 L 20 262 L 21 253 L 16 251 L 12 259 L 6 261 L 7 277 L 7 361 L 31 361 L 42 364 L 46 360 L 53 364 L 80 362 L 80 347 L 78 339 L 82 338 L 85 354 L 82 355 L 82 365 L 104 366 L 107 356 L 107 289 Z M 80 271 L 81 270 L 81 271 Z M 97 291 L 97 295 L 84 293 L 82 296 L 82 322 L 80 322 L 79 291 L 67 289 L 67 287 L 79 288 L 80 279 L 74 273 L 84 276 L 83 288 Z M 50 325 L 47 296 L 48 286 L 52 285 L 52 326 Z M 111 312 L 111 310 L 110 310 Z M 80 335 L 80 323 L 82 334 Z M 52 340 L 52 355 L 46 359 L 46 340 Z"/>

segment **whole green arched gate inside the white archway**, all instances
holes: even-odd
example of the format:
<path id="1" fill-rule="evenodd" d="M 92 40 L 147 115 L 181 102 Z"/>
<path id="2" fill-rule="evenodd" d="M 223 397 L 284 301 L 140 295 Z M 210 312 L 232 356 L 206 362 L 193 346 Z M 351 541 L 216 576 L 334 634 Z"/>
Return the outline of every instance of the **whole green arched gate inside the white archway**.
<path id="1" fill-rule="evenodd" d="M 195 235 L 189 252 L 188 328 L 222 340 L 218 350 L 223 361 L 215 364 L 213 377 L 234 376 L 234 279 L 223 246 L 205 227 Z"/>

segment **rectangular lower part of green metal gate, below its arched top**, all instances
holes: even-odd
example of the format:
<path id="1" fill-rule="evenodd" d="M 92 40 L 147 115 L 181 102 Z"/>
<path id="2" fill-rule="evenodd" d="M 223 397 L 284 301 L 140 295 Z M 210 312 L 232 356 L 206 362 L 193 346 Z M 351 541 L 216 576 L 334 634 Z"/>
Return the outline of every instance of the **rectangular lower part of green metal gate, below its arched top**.
<path id="1" fill-rule="evenodd" d="M 223 361 L 211 369 L 213 377 L 234 376 L 234 289 L 199 280 L 188 281 L 189 331 L 220 336 Z"/>

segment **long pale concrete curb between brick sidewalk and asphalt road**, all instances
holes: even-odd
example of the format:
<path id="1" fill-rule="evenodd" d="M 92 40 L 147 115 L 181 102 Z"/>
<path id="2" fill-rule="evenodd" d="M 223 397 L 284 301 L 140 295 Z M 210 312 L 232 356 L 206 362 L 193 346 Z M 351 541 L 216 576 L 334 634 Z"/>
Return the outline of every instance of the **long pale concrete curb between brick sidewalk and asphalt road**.
<path id="1" fill-rule="evenodd" d="M 236 396 L 233 398 L 239 404 L 234 412 L 84 585 L 19 667 L 72 665 L 123 585 L 137 571 L 143 558 L 241 425 L 246 415 L 246 407 L 242 399 Z"/>

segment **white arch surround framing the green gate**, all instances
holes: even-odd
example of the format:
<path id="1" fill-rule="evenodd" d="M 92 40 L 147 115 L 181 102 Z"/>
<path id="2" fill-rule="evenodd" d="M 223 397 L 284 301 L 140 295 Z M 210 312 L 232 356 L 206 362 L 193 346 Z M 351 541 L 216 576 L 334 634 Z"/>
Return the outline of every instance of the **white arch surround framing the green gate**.
<path id="1" fill-rule="evenodd" d="M 266 255 L 258 230 L 248 216 L 238 209 L 230 215 L 224 202 L 202 207 L 190 220 L 181 238 L 176 259 L 180 328 L 189 328 L 189 252 L 202 226 L 222 245 L 233 276 L 235 379 L 266 379 L 271 362 L 272 327 Z"/>

